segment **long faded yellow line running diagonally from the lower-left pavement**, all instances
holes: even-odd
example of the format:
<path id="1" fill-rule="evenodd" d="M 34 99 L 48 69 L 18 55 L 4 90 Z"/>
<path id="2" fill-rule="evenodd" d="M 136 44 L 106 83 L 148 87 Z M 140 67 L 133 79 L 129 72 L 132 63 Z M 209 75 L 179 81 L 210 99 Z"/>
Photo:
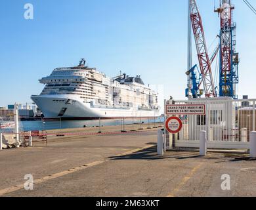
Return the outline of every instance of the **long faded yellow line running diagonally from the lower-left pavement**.
<path id="1" fill-rule="evenodd" d="M 114 157 L 125 156 L 125 155 L 128 155 L 128 154 L 133 154 L 135 152 L 139 152 L 140 150 L 145 150 L 146 148 L 150 148 L 152 146 L 154 146 L 154 145 L 148 145 L 148 146 L 145 146 L 143 148 L 138 148 L 138 149 L 135 149 L 135 150 L 131 150 L 129 152 L 125 152 L 123 154 L 119 154 L 119 155 L 114 156 Z M 53 175 L 49 175 L 49 176 L 43 177 L 41 179 L 36 179 L 36 180 L 33 181 L 33 184 L 39 184 L 39 183 L 46 182 L 46 181 L 51 180 L 51 179 L 56 179 L 58 177 L 63 177 L 65 175 L 69 175 L 71 173 L 74 173 L 74 172 L 77 172 L 77 171 L 81 171 L 83 169 L 87 169 L 87 168 L 93 167 L 95 165 L 99 165 L 99 164 L 104 163 L 104 162 L 109 161 L 109 160 L 111 160 L 111 158 L 104 158 L 104 159 L 102 159 L 100 161 L 95 161 L 95 162 L 92 162 L 92 163 L 87 163 L 85 165 L 81 165 L 79 167 L 75 167 L 75 168 L 72 168 L 72 169 L 68 169 L 66 171 L 55 173 Z M 0 190 L 0 196 L 3 196 L 5 194 L 9 194 L 11 192 L 15 192 L 17 190 L 22 190 L 23 188 L 24 188 L 24 184 L 18 184 L 16 186 L 11 186 L 9 188 L 5 188 L 3 190 Z"/>

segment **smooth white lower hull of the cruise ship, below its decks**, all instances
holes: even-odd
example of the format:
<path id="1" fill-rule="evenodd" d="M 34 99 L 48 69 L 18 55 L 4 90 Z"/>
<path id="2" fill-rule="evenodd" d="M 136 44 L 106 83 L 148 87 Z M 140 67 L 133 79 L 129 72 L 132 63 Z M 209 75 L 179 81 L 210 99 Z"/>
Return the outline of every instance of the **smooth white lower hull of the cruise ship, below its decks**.
<path id="1" fill-rule="evenodd" d="M 67 104 L 67 100 L 72 104 Z M 32 96 L 44 117 L 62 117 L 70 119 L 114 119 L 118 117 L 158 117 L 160 110 L 140 110 L 138 108 L 117 106 L 93 106 L 84 103 L 75 95 L 41 95 Z M 64 114 L 60 114 L 62 110 Z M 60 116 L 61 115 L 61 116 Z"/>

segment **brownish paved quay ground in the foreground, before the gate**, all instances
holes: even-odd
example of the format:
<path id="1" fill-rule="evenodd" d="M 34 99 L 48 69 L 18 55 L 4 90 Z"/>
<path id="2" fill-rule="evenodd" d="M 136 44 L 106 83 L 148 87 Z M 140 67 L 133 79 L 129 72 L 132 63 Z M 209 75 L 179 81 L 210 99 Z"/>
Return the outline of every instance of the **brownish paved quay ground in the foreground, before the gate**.
<path id="1" fill-rule="evenodd" d="M 160 157 L 156 131 L 51 136 L 47 146 L 2 150 L 0 196 L 256 196 L 255 160 L 175 151 Z M 25 175 L 33 176 L 33 190 L 24 189 Z M 223 175 L 230 189 L 223 190 Z"/>

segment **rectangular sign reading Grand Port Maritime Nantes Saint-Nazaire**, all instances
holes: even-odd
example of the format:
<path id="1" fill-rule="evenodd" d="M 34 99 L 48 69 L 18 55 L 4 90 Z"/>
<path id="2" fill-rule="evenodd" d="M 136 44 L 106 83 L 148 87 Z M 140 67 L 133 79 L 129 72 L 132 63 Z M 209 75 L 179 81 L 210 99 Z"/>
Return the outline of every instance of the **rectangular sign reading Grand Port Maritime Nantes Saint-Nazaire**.
<path id="1" fill-rule="evenodd" d="M 205 104 L 166 105 L 165 114 L 169 115 L 205 115 Z"/>

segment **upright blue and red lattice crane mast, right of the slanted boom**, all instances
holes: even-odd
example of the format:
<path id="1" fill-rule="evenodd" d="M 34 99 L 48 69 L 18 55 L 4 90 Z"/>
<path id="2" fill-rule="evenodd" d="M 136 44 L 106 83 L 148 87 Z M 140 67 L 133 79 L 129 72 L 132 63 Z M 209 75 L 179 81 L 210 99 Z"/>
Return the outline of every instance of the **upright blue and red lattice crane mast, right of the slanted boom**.
<path id="1" fill-rule="evenodd" d="M 221 20 L 219 96 L 236 99 L 239 54 L 236 53 L 236 23 L 232 20 L 233 10 L 234 6 L 230 0 L 220 0 L 220 7 L 215 12 L 219 13 Z"/>

